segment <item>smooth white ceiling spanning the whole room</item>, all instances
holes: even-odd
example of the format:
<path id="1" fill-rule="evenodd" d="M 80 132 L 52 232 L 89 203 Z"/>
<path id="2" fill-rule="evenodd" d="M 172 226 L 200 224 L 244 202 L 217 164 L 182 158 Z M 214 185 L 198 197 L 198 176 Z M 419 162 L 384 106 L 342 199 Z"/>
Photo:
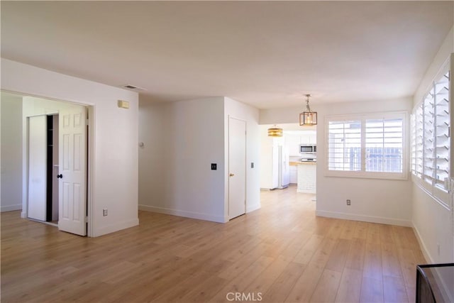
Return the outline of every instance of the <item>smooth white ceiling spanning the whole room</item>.
<path id="1" fill-rule="evenodd" d="M 140 101 L 260 109 L 414 94 L 454 1 L 1 1 L 1 56 Z"/>

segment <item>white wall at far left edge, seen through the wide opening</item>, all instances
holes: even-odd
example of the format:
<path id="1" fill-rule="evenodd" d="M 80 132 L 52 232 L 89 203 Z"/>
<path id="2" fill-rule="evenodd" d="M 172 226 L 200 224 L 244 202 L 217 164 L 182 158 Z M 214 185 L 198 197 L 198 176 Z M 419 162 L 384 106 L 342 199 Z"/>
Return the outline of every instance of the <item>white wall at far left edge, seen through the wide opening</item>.
<path id="1" fill-rule="evenodd" d="M 22 98 L 1 93 L 0 211 L 22 209 Z"/>

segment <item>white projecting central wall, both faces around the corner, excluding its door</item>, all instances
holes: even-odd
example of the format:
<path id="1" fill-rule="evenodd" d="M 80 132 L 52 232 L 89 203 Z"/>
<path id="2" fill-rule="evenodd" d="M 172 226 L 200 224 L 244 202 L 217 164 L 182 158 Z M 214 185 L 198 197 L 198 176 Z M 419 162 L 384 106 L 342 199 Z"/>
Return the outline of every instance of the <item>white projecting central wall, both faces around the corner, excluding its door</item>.
<path id="1" fill-rule="evenodd" d="M 260 207 L 258 110 L 224 97 L 140 104 L 139 209 L 228 221 L 228 116 L 247 121 L 247 209 Z M 217 170 L 211 170 L 211 163 Z"/>

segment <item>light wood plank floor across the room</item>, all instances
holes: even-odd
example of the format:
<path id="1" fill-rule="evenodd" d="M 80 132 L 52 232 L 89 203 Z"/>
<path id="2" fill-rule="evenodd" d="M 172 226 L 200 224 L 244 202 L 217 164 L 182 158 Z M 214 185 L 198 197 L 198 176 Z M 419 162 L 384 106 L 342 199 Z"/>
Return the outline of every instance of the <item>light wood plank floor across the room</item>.
<path id="1" fill-rule="evenodd" d="M 83 238 L 1 214 L 1 302 L 414 302 L 411 228 L 316 217 L 295 187 L 227 224 L 140 212 Z"/>

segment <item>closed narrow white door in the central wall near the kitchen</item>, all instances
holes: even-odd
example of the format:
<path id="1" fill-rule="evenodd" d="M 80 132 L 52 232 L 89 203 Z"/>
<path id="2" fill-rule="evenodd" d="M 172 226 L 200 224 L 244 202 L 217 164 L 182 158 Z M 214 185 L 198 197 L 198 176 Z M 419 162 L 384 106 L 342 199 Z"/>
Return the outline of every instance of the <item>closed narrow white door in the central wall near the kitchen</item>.
<path id="1" fill-rule="evenodd" d="M 228 218 L 246 209 L 246 122 L 228 119 Z"/>

